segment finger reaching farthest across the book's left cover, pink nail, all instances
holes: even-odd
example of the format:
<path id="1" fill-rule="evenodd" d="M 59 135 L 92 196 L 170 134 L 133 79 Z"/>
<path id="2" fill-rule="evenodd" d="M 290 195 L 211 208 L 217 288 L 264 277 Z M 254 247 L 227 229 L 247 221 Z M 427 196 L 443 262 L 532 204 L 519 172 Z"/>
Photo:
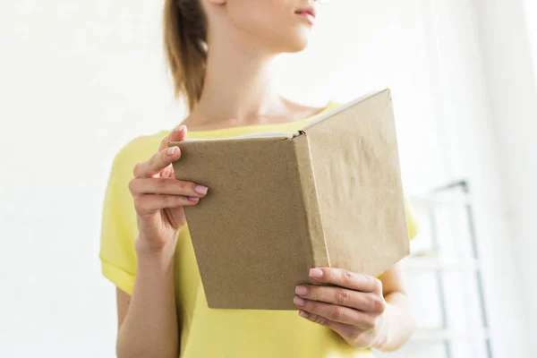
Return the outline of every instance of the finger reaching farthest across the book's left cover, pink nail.
<path id="1" fill-rule="evenodd" d="M 135 178 L 129 183 L 132 195 L 167 194 L 202 198 L 209 188 L 192 182 L 171 178 Z"/>

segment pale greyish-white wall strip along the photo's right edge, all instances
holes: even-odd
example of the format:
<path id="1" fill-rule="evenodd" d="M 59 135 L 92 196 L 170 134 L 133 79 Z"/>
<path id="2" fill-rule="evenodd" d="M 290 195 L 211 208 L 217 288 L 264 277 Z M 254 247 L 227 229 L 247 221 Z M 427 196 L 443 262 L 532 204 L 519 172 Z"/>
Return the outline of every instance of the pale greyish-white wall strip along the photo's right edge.
<path id="1" fill-rule="evenodd" d="M 524 307 L 531 349 L 537 344 L 531 324 L 537 320 L 534 252 L 537 251 L 537 6 L 531 1 L 477 1 L 482 50 L 486 60 L 493 111 L 490 124 L 498 131 L 510 226 L 522 286 L 512 294 Z"/>

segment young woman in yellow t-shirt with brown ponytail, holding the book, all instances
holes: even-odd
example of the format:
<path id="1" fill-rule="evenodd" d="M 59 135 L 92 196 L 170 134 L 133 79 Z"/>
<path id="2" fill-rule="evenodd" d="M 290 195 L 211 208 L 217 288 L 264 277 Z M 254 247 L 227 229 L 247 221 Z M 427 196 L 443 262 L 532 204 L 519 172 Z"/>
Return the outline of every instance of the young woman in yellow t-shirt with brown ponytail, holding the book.
<path id="1" fill-rule="evenodd" d="M 175 180 L 170 164 L 181 152 L 166 143 L 183 140 L 187 127 L 189 138 L 295 132 L 337 105 L 303 107 L 279 97 L 270 83 L 275 56 L 306 46 L 314 1 L 166 0 L 165 6 L 167 60 L 190 115 L 171 132 L 131 141 L 115 157 L 100 259 L 117 286 L 117 356 L 369 357 L 371 348 L 403 345 L 413 319 L 398 265 L 379 279 L 312 268 L 321 285 L 296 287 L 296 311 L 208 308 L 183 207 L 197 205 L 210 189 Z"/>

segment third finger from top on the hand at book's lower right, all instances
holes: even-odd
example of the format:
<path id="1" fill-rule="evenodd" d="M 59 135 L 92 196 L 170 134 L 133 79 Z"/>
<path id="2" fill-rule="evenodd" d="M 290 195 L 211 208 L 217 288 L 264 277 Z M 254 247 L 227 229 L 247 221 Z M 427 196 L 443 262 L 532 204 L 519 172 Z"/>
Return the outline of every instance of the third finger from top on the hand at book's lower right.
<path id="1" fill-rule="evenodd" d="M 302 311 L 316 314 L 334 322 L 345 323 L 362 329 L 372 329 L 377 325 L 376 315 L 357 311 L 352 308 L 304 300 L 299 296 L 294 296 L 293 302 Z"/>

